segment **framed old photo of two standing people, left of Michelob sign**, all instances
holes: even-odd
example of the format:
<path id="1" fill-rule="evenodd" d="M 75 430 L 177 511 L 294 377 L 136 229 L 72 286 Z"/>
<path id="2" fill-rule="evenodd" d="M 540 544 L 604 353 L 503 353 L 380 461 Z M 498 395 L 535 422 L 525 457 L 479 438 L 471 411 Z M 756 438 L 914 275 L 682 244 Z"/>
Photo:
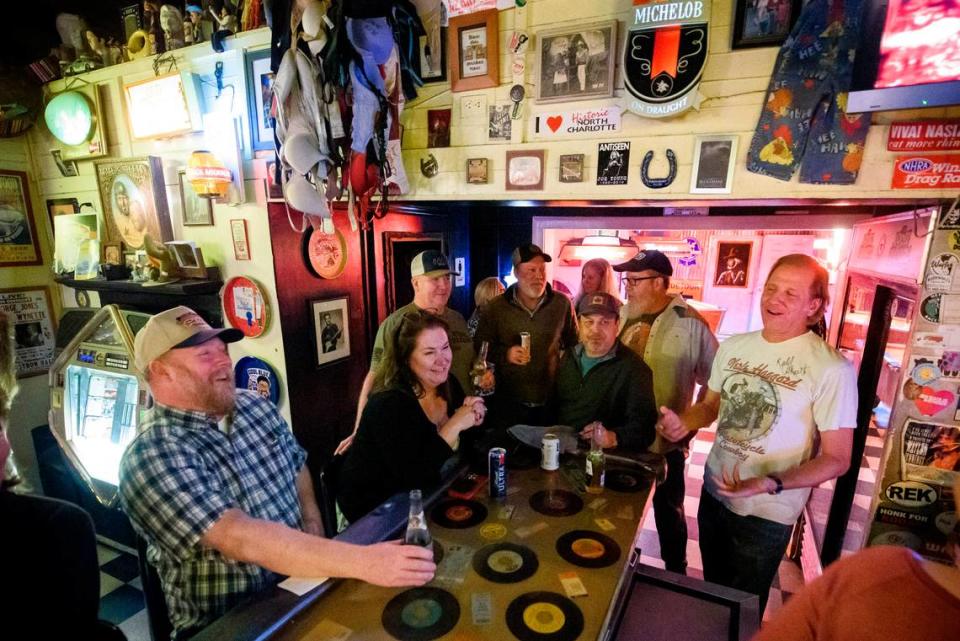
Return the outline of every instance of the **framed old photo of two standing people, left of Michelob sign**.
<path id="1" fill-rule="evenodd" d="M 537 33 L 537 102 L 613 95 L 617 21 Z"/>

